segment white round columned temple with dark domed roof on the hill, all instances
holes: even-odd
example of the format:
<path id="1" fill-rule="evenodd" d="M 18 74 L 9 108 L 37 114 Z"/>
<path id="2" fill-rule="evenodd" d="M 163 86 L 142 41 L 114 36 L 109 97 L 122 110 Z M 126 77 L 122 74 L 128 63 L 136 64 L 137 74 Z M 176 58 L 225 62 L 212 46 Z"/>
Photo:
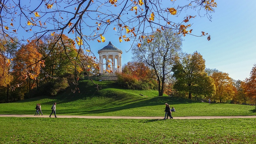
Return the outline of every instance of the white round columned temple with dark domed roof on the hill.
<path id="1" fill-rule="evenodd" d="M 98 51 L 100 57 L 100 73 L 104 71 L 104 65 L 106 65 L 106 70 L 111 70 L 113 73 L 122 72 L 122 63 L 121 63 L 121 55 L 122 50 L 115 47 L 111 42 L 108 45 L 104 46 L 102 49 Z M 109 66 L 110 65 L 110 66 Z M 110 68 L 109 68 L 110 67 Z M 105 72 L 106 72 L 105 70 Z"/>

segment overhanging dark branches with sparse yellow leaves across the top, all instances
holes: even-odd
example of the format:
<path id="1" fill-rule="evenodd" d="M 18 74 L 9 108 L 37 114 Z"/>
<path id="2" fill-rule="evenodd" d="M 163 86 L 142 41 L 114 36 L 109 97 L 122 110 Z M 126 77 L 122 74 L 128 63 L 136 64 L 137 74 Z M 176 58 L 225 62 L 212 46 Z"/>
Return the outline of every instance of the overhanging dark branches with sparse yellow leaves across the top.
<path id="1" fill-rule="evenodd" d="M 191 21 L 197 19 L 195 15 L 211 19 L 210 13 L 215 7 L 214 0 L 5 0 L 0 3 L 3 31 L 0 35 L 13 38 L 23 33 L 23 40 L 30 41 L 34 37 L 40 39 L 58 33 L 57 43 L 63 34 L 74 34 L 78 52 L 88 50 L 84 54 L 88 52 L 87 56 L 94 56 L 89 41 L 105 42 L 104 36 L 109 29 L 116 30 L 120 42 L 133 40 L 139 44 L 147 34 L 169 29 L 169 25 L 177 35 L 207 36 L 202 30 L 197 34 L 192 32 Z M 188 13 L 188 9 L 193 11 Z M 176 19 L 177 15 L 184 19 Z M 210 40 L 210 35 L 207 39 Z"/>

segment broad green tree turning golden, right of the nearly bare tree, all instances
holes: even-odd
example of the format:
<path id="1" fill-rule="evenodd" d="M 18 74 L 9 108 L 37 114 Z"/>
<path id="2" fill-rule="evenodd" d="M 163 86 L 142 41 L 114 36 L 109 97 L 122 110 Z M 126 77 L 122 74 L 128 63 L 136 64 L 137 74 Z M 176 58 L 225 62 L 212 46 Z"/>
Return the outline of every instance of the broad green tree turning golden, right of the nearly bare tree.
<path id="1" fill-rule="evenodd" d="M 172 68 L 173 77 L 176 78 L 174 89 L 188 92 L 189 99 L 192 94 L 211 97 L 215 93 L 214 82 L 204 70 L 205 60 L 200 53 L 186 54 Z"/>

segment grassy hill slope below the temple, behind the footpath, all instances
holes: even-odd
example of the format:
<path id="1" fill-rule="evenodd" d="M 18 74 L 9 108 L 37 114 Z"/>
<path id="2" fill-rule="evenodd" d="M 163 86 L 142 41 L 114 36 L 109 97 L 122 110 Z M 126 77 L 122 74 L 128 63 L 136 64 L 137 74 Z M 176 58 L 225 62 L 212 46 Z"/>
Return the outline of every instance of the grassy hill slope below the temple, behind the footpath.
<path id="1" fill-rule="evenodd" d="M 80 81 L 79 91 L 71 88 L 55 97 L 36 97 L 15 103 L 0 104 L 0 114 L 34 114 L 36 103 L 42 106 L 43 114 L 51 113 L 57 102 L 57 115 L 88 116 L 164 116 L 164 103 L 173 106 L 173 116 L 245 116 L 256 115 L 252 106 L 235 104 L 208 104 L 193 100 L 162 96 L 157 91 L 127 90 L 113 81 L 102 81 L 100 91 L 90 81 Z M 144 96 L 140 96 L 143 94 Z"/>

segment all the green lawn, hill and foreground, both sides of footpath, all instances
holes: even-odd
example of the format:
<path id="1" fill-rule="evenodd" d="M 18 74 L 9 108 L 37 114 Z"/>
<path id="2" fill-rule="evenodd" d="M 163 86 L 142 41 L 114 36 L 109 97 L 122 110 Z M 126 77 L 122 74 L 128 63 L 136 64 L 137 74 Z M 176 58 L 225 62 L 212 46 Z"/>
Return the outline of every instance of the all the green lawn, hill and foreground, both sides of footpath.
<path id="1" fill-rule="evenodd" d="M 157 91 L 126 90 L 115 82 L 80 81 L 55 97 L 36 97 L 0 104 L 0 114 L 34 115 L 36 103 L 50 115 L 57 102 L 58 115 L 163 116 L 164 103 L 175 107 L 172 116 L 256 115 L 253 106 L 208 104 L 177 97 L 158 97 Z M 140 96 L 143 94 L 144 96 Z M 241 144 L 256 143 L 256 118 L 237 119 L 82 119 L 0 117 L 0 143 L 138 143 Z"/>

